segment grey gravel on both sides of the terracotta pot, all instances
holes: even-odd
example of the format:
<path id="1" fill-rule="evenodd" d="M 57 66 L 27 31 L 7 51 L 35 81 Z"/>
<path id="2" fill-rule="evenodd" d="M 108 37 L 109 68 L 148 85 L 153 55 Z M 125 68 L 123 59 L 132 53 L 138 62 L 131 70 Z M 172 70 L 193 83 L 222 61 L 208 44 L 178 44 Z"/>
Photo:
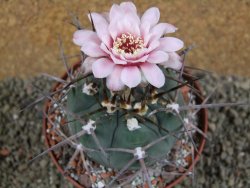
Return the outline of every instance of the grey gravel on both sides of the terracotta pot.
<path id="1" fill-rule="evenodd" d="M 250 79 L 205 76 L 207 93 L 217 90 L 209 102 L 250 101 Z M 0 187 L 72 187 L 57 173 L 49 156 L 28 161 L 45 149 L 42 104 L 22 113 L 19 109 L 39 96 L 32 85 L 47 91 L 51 82 L 7 79 L 0 82 Z M 250 187 L 250 107 L 209 110 L 209 140 L 195 168 L 196 187 Z M 190 187 L 187 178 L 177 188 Z"/>

